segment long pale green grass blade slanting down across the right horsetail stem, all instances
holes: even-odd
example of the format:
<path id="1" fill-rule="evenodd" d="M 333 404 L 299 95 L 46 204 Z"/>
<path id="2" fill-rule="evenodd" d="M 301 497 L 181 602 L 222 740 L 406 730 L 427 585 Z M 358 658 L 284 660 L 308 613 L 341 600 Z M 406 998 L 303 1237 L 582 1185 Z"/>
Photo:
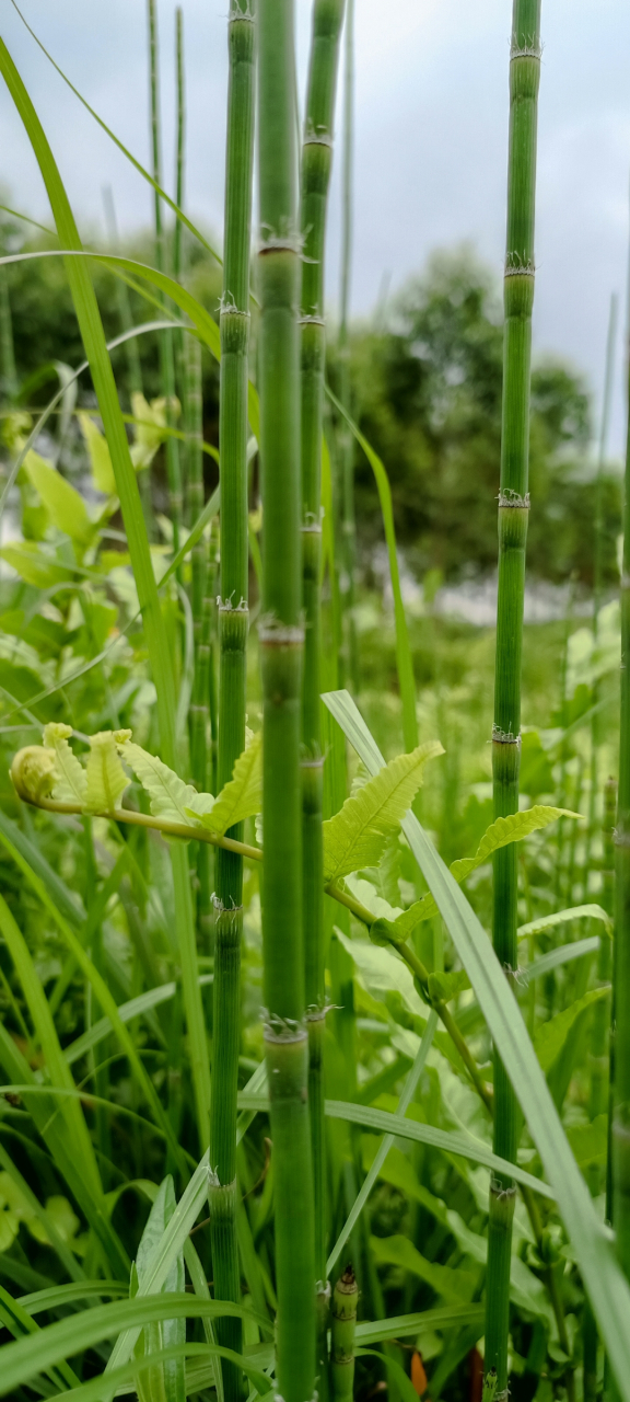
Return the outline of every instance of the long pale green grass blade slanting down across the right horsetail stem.
<path id="1" fill-rule="evenodd" d="M 370 773 L 378 773 L 384 764 L 382 754 L 351 697 L 347 691 L 337 691 L 329 693 L 323 700 Z M 403 831 L 438 903 L 514 1085 L 587 1281 L 619 1392 L 624 1402 L 630 1402 L 629 1283 L 575 1164 L 525 1023 L 486 931 L 413 813 L 405 819 Z"/>

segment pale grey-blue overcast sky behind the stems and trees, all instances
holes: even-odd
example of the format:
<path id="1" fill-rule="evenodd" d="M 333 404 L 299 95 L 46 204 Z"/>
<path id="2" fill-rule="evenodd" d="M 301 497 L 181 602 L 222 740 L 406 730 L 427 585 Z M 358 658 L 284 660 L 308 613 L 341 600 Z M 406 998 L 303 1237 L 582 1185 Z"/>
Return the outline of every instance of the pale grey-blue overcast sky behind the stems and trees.
<path id="1" fill-rule="evenodd" d="M 24 0 L 29 24 L 73 83 L 148 163 L 146 0 Z M 158 0 L 164 178 L 174 178 L 174 4 Z M 309 0 L 297 0 L 304 88 Z M 188 206 L 221 231 L 227 0 L 183 0 Z M 437 247 L 470 240 L 501 271 L 511 0 L 356 0 L 356 219 L 353 313 L 374 310 Z M 70 199 L 88 234 L 104 184 L 125 230 L 147 224 L 151 192 L 39 52 L 11 0 L 0 34 L 36 104 Z M 535 346 L 584 372 L 601 400 L 608 307 L 626 301 L 630 171 L 627 0 L 543 0 Z M 339 125 L 339 123 L 337 123 Z M 328 262 L 339 280 L 336 163 Z M 0 88 L 0 182 L 10 203 L 49 219 L 11 98 Z M 610 449 L 622 453 L 622 342 Z"/>

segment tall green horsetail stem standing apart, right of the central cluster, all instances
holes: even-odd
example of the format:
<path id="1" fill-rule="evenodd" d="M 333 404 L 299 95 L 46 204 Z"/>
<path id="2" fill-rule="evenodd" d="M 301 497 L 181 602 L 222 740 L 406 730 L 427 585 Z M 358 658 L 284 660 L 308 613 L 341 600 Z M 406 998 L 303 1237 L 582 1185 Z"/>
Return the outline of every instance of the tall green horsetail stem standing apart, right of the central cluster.
<path id="1" fill-rule="evenodd" d="M 494 817 L 518 812 L 521 760 L 521 648 L 529 495 L 529 380 L 533 307 L 536 118 L 540 80 L 540 0 L 514 0 L 510 53 L 510 157 L 505 244 L 501 485 L 498 496 L 498 600 L 494 679 Z M 494 951 L 508 979 L 518 967 L 518 854 L 494 854 Z M 515 1014 L 518 1015 L 518 1014 Z M 494 1056 L 494 1152 L 515 1162 L 518 1103 Z M 517 1187 L 490 1185 L 486 1281 L 486 1370 L 497 1370 L 496 1396 L 507 1395 L 510 1263 Z"/>

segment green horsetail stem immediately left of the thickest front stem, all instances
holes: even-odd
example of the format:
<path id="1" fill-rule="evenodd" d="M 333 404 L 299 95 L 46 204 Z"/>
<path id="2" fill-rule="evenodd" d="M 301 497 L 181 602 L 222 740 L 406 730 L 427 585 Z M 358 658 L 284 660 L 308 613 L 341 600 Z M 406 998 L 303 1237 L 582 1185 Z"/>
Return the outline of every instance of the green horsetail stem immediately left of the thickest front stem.
<path id="1" fill-rule="evenodd" d="M 248 4 L 231 0 L 228 17 L 228 111 L 225 233 L 221 299 L 221 551 L 218 788 L 231 778 L 245 747 L 248 645 L 248 348 L 249 252 L 252 237 L 255 25 Z M 242 840 L 242 823 L 230 829 Z M 237 1094 L 241 1039 L 242 858 L 216 857 L 213 1096 L 210 1112 L 210 1220 L 214 1294 L 241 1297 L 237 1238 Z M 241 1352 L 241 1321 L 223 1319 L 218 1340 Z M 227 1402 L 238 1398 L 241 1375 L 223 1364 Z"/>

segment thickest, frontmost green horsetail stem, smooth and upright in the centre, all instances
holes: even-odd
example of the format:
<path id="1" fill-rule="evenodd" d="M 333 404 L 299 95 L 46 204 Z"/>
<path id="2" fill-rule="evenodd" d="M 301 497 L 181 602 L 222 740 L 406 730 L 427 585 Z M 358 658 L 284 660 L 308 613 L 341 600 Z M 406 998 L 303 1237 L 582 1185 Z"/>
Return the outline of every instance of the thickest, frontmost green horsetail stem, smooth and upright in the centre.
<path id="1" fill-rule="evenodd" d="M 263 960 L 276 1227 L 277 1391 L 315 1391 L 315 1262 L 301 872 L 300 268 L 293 0 L 259 0 L 263 503 Z"/>

